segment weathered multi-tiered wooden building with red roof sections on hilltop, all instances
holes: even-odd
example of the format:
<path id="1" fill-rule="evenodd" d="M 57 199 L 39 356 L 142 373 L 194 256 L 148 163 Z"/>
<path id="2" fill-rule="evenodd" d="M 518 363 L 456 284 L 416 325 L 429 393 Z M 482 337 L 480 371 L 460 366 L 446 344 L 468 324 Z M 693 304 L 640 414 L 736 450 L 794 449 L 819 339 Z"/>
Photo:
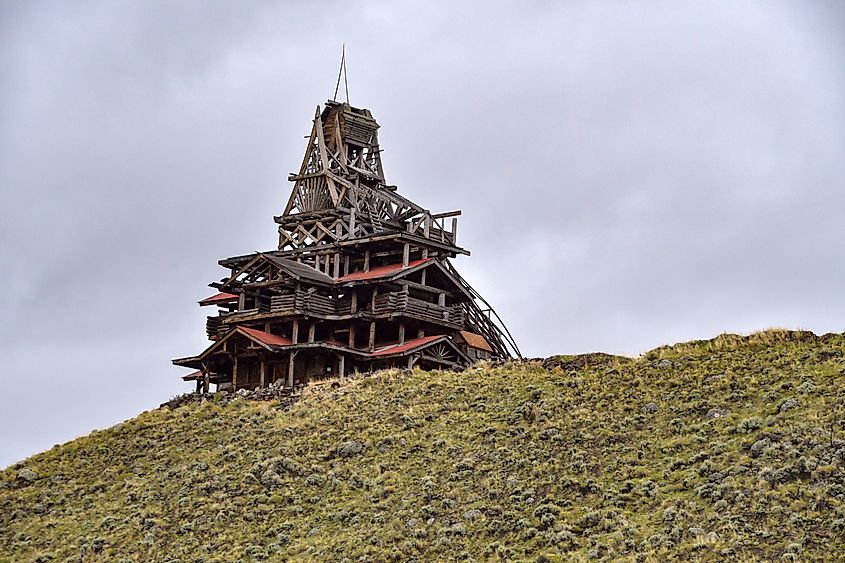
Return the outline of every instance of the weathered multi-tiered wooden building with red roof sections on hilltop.
<path id="1" fill-rule="evenodd" d="M 369 110 L 317 108 L 277 250 L 226 258 L 211 345 L 173 360 L 235 389 L 388 366 L 458 368 L 519 357 L 499 317 L 458 274 L 460 211 L 431 213 L 386 183 Z M 278 385 L 278 383 L 276 383 Z"/>

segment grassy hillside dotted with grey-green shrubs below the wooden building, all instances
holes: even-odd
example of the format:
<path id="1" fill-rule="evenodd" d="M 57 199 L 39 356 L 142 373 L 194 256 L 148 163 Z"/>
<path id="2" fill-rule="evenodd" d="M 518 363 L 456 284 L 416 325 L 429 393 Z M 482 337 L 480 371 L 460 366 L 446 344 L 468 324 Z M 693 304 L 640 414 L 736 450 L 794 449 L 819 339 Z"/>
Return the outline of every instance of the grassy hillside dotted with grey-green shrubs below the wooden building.
<path id="1" fill-rule="evenodd" d="M 163 408 L 0 473 L 0 560 L 842 557 L 844 399 L 769 331 Z"/>

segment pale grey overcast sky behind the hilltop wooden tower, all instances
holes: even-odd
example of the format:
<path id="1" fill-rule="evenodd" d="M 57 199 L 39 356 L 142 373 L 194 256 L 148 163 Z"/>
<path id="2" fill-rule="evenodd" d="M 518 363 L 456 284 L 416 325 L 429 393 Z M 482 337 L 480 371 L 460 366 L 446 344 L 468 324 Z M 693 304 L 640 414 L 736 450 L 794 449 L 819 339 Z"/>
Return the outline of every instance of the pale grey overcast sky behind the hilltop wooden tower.
<path id="1" fill-rule="evenodd" d="M 297 6 L 293 6 L 297 4 Z M 0 4 L 0 467 L 189 390 L 346 42 L 527 356 L 845 330 L 836 2 Z"/>

